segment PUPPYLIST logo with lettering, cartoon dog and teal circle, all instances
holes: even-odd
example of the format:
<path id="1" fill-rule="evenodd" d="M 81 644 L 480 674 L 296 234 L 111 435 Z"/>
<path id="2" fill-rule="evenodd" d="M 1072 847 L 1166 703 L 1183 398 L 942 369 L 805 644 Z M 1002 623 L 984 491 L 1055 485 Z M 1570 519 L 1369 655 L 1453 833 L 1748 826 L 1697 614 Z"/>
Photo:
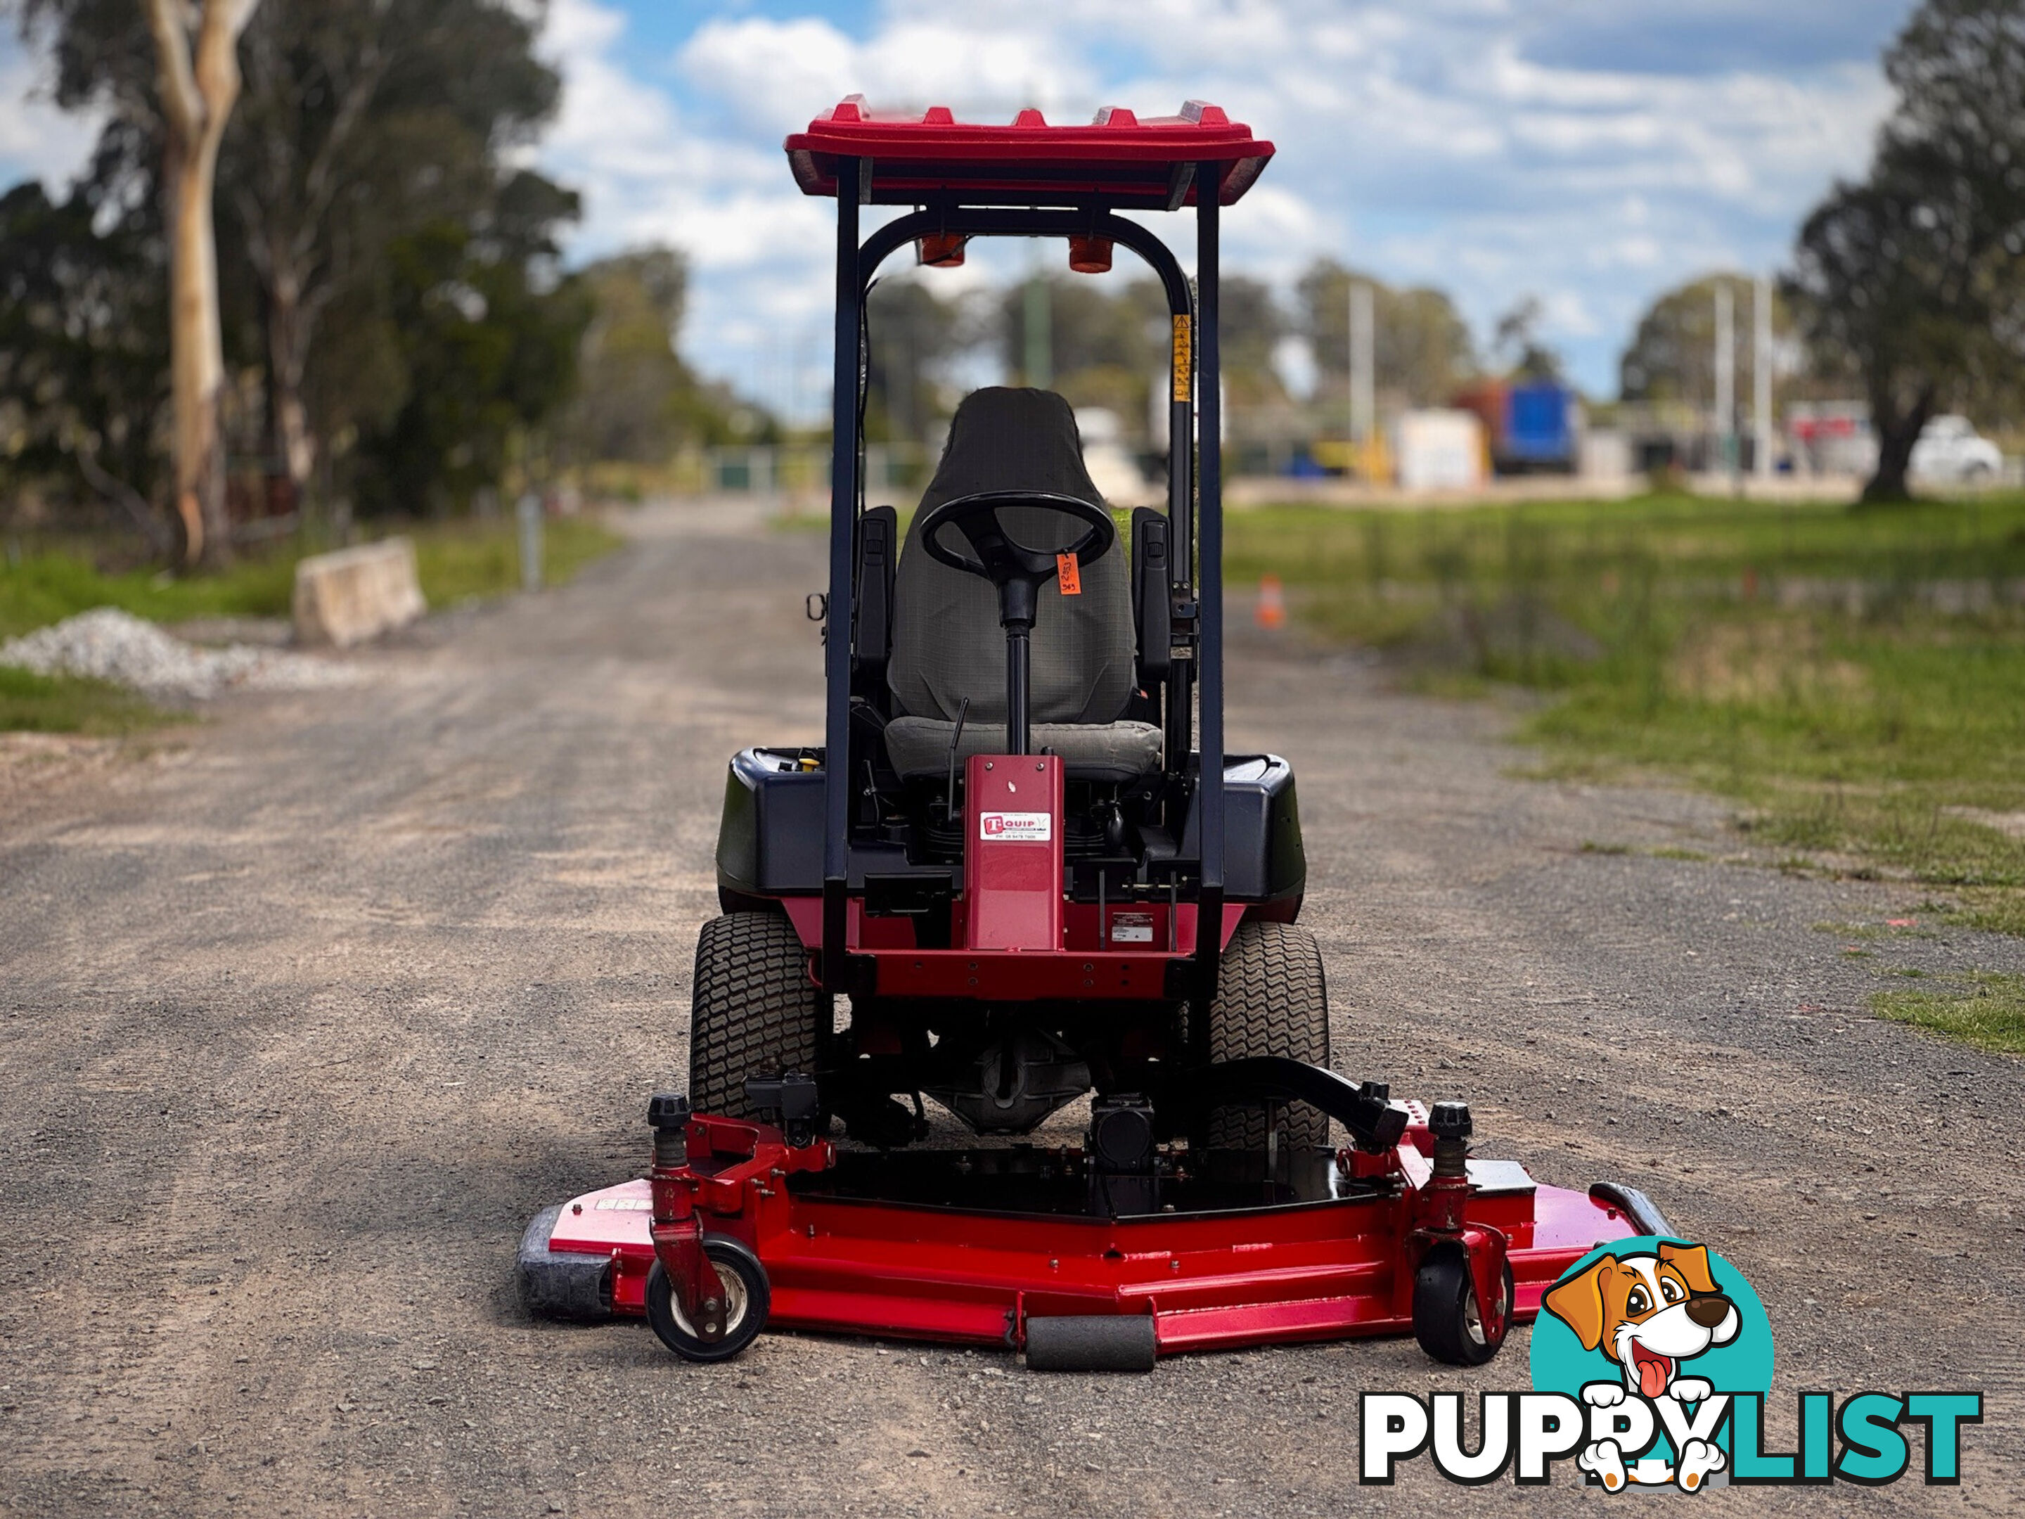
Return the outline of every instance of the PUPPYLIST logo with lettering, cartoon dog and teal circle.
<path id="1" fill-rule="evenodd" d="M 1608 1493 L 1671 1487 L 1895 1483 L 1912 1466 L 1906 1426 L 1922 1426 L 1924 1478 L 1960 1483 L 1960 1432 L 1982 1393 L 1827 1391 L 1798 1400 L 1798 1448 L 1768 1452 L 1772 1325 L 1758 1292 L 1705 1246 L 1644 1235 L 1575 1262 L 1541 1298 L 1533 1391 L 1480 1393 L 1476 1450 L 1464 1448 L 1462 1393 L 1365 1393 L 1359 1481 L 1389 1485 L 1430 1456 L 1454 1483 L 1507 1470 L 1521 1487 L 1573 1460 Z"/>

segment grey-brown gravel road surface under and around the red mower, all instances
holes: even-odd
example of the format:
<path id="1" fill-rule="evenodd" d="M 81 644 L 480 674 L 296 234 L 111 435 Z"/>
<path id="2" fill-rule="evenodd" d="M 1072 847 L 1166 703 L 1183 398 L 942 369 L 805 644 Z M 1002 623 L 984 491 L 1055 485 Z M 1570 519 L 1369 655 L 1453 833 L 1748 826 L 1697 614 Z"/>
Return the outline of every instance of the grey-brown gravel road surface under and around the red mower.
<path id="1" fill-rule="evenodd" d="M 1422 1515 L 1602 1501 L 1355 1478 L 1363 1389 L 1527 1387 L 1411 1341 L 1041 1377 L 770 1335 L 729 1367 L 531 1323 L 545 1203 L 636 1175 L 680 1082 L 723 766 L 820 729 L 822 543 L 660 510 L 565 591 L 431 620 L 373 683 L 247 697 L 0 788 L 0 1507 L 32 1515 Z M 1296 764 L 1336 1063 L 1480 1150 L 1644 1187 L 1762 1292 L 1806 1387 L 1989 1395 L 2013 1511 L 2025 1067 L 1865 1015 L 2021 968 L 1918 893 L 1654 857 L 1717 804 L 1515 778 L 1494 707 L 1241 632 L 1233 749 Z M 1592 845 L 1592 849 L 1584 849 Z M 1602 847 L 1602 849 L 1596 849 Z M 1606 853 L 1632 847 L 1632 853 Z M 1644 853 L 1640 853 L 1644 851 Z M 1863 940 L 1816 924 L 1922 917 Z M 1790 1446 L 1788 1446 L 1790 1448 Z"/>

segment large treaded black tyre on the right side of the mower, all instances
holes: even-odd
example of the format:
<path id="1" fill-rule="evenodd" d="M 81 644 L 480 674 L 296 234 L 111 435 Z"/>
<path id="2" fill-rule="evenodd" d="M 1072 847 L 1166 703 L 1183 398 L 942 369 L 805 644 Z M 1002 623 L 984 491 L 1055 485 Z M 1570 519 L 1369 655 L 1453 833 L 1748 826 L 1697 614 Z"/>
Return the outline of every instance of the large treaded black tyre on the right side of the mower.
<path id="1" fill-rule="evenodd" d="M 1328 1067 L 1322 948 L 1314 934 L 1294 924 L 1239 924 L 1217 968 L 1209 1059 L 1251 1055 L 1286 1055 Z M 1215 1150 L 1264 1150 L 1274 1132 L 1288 1146 L 1328 1144 L 1328 1114 L 1306 1102 L 1233 1104 L 1211 1110 L 1189 1142 Z"/>

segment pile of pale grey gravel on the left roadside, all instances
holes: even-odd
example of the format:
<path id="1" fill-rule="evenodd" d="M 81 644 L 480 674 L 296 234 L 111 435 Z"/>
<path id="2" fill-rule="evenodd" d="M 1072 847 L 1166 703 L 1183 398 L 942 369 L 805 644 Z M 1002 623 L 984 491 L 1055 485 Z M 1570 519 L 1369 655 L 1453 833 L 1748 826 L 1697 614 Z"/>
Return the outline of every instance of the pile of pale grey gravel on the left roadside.
<path id="1" fill-rule="evenodd" d="M 0 644 L 0 664 L 38 674 L 89 674 L 158 697 L 202 701 L 221 691 L 316 691 L 348 687 L 348 664 L 231 644 L 196 648 L 152 622 L 101 606 Z"/>

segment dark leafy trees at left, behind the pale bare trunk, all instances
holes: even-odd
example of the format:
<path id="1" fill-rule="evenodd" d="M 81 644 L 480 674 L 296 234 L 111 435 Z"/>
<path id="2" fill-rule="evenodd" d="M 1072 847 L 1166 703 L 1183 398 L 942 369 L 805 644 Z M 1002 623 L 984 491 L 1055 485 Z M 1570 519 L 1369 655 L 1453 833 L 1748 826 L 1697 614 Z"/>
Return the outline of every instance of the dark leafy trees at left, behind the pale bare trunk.
<path id="1" fill-rule="evenodd" d="M 0 486 L 103 502 L 166 553 L 166 124 L 136 0 L 0 0 L 103 117 L 69 186 L 0 194 Z M 723 431 L 674 354 L 666 249 L 565 271 L 567 186 L 524 168 L 561 81 L 539 6 L 263 0 L 217 170 L 239 531 L 322 504 L 466 510 L 583 458 Z M 597 405 L 575 403 L 589 385 Z"/>

